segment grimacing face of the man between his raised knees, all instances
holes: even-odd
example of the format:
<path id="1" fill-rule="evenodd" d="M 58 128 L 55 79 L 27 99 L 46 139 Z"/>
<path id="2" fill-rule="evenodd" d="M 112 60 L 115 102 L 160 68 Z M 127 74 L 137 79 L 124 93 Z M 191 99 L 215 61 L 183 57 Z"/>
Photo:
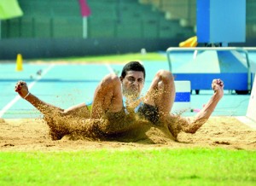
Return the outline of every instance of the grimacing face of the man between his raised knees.
<path id="1" fill-rule="evenodd" d="M 140 71 L 128 71 L 125 78 L 120 78 L 122 82 L 123 94 L 136 98 L 140 96 L 144 86 L 144 74 Z"/>

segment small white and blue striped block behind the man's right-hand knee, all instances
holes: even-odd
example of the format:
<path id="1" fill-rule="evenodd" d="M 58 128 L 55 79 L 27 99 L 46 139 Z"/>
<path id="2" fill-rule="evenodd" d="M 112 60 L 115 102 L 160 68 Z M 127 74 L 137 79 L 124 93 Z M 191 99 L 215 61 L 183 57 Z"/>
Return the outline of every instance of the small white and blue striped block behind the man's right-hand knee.
<path id="1" fill-rule="evenodd" d="M 190 111 L 190 92 L 191 84 L 190 81 L 174 81 L 176 96 L 172 106 L 172 113 L 183 113 Z"/>

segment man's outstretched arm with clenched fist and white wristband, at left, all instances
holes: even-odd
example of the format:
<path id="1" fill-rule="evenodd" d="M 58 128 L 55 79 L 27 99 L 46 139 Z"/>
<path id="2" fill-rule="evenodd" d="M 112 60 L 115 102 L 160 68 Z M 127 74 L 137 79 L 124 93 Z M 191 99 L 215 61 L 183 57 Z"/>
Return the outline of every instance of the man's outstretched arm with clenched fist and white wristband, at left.
<path id="1" fill-rule="evenodd" d="M 37 96 L 32 95 L 29 93 L 28 87 L 26 82 L 19 81 L 15 86 L 15 91 L 19 93 L 19 95 L 24 98 L 27 102 L 30 102 L 35 108 L 43 113 L 44 115 L 51 115 L 52 113 L 60 114 L 60 116 L 76 116 L 76 117 L 90 117 L 90 111 L 86 107 L 85 103 L 81 103 L 77 106 L 73 106 L 71 108 L 62 109 L 57 108 L 54 105 L 51 105 L 47 102 L 40 100 Z M 29 94 L 28 94 L 29 93 Z"/>

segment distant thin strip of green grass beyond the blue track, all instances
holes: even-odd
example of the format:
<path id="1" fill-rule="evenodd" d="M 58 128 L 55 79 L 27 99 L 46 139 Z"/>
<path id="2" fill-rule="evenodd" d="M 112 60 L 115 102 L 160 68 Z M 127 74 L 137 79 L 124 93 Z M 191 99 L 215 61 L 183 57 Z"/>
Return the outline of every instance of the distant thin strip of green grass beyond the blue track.
<path id="1" fill-rule="evenodd" d="M 140 53 L 124 54 L 124 55 L 99 55 L 99 56 L 79 56 L 67 58 L 52 58 L 41 59 L 40 61 L 68 61 L 68 62 L 127 62 L 127 61 L 166 61 L 166 55 L 159 53 L 147 53 L 142 55 Z M 30 60 L 37 61 L 37 60 Z"/>

